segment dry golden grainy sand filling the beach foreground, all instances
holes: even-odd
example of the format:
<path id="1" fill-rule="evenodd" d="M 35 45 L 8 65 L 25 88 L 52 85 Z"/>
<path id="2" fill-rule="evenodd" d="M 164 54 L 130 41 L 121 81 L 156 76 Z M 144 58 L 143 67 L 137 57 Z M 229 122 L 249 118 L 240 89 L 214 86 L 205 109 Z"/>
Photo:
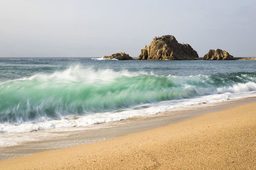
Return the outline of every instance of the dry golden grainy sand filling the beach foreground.
<path id="1" fill-rule="evenodd" d="M 109 141 L 3 160 L 0 169 L 256 169 L 256 103 Z"/>

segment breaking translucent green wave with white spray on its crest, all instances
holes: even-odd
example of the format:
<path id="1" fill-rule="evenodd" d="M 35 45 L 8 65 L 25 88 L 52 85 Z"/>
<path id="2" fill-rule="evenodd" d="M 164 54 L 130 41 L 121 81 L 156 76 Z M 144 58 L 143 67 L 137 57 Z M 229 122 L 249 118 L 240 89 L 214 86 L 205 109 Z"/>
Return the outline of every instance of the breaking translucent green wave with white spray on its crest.
<path id="1" fill-rule="evenodd" d="M 35 74 L 1 83 L 0 122 L 17 125 L 58 121 L 161 101 L 253 92 L 256 91 L 255 75 L 157 76 L 74 66 L 52 74 Z"/>

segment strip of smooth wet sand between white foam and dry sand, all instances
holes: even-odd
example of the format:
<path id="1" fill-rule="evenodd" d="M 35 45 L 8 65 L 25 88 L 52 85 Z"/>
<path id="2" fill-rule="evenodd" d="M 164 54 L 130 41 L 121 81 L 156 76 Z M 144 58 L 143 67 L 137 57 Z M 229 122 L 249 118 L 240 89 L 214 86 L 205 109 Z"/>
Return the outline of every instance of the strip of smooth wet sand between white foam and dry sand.
<path id="1" fill-rule="evenodd" d="M 256 97 L 246 97 L 244 99 L 217 103 L 213 106 L 200 106 L 182 111 L 166 111 L 149 117 L 136 117 L 118 122 L 100 124 L 102 127 L 99 129 L 77 131 L 68 136 L 60 136 L 49 140 L 33 141 L 24 143 L 24 145 L 0 148 L 0 160 L 12 159 L 14 157 L 30 155 L 32 153 L 44 152 L 47 150 L 86 145 L 89 143 L 115 139 L 127 134 L 148 131 L 157 127 L 163 127 L 164 125 L 184 122 L 191 118 L 204 115 L 205 113 L 221 111 L 230 106 L 232 107 L 247 103 L 256 103 Z"/>

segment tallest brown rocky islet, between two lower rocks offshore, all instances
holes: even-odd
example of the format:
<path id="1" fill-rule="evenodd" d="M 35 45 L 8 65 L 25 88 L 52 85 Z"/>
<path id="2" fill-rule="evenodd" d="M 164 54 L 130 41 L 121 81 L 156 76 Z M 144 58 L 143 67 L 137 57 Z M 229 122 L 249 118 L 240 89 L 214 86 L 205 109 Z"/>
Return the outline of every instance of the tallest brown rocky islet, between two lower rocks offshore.
<path id="1" fill-rule="evenodd" d="M 188 44 L 180 44 L 174 36 L 154 38 L 149 46 L 141 49 L 137 60 L 195 60 L 197 52 Z"/>

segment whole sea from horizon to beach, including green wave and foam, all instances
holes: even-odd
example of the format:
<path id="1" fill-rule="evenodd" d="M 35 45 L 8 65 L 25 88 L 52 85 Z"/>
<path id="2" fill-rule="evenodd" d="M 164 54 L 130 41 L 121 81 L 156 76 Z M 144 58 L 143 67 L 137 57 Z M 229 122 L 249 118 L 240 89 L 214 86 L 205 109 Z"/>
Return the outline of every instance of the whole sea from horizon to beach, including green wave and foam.
<path id="1" fill-rule="evenodd" d="M 0 147 L 252 96 L 256 60 L 0 58 Z"/>

